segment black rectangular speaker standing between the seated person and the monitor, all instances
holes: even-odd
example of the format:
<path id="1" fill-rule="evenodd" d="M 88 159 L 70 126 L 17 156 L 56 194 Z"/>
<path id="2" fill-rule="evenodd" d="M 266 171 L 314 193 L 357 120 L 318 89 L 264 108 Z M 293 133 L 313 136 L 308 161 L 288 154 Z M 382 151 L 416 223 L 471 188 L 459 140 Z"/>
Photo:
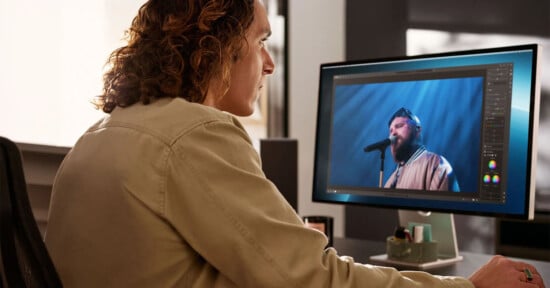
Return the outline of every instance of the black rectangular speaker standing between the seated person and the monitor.
<path id="1" fill-rule="evenodd" d="M 298 211 L 298 140 L 260 139 L 262 169 L 281 194 Z"/>

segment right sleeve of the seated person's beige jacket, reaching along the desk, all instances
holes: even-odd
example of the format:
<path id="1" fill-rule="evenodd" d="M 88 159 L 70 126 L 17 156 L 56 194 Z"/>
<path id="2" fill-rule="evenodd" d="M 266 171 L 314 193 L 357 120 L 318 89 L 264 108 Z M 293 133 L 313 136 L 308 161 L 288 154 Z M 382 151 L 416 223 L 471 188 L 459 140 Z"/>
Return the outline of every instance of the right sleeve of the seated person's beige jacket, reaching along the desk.
<path id="1" fill-rule="evenodd" d="M 172 145 L 166 215 L 174 229 L 236 287 L 473 287 L 459 277 L 358 264 L 324 249 L 321 232 L 266 179 L 240 124 L 213 121 Z"/>

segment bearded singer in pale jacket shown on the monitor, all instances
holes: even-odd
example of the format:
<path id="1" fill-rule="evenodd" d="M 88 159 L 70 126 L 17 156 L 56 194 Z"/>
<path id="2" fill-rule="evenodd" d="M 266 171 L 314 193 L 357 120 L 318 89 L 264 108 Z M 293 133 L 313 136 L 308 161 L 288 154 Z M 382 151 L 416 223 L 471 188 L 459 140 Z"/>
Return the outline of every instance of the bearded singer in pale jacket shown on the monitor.
<path id="1" fill-rule="evenodd" d="M 390 150 L 397 167 L 384 187 L 397 189 L 460 191 L 451 164 L 422 144 L 420 119 L 406 108 L 388 122 Z"/>

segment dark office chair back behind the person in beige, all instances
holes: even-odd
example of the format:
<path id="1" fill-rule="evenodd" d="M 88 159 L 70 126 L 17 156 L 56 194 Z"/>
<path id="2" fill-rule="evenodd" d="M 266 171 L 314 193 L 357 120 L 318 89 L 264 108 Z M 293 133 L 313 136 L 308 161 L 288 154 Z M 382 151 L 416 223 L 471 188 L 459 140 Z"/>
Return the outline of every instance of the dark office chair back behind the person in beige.
<path id="1" fill-rule="evenodd" d="M 27 195 L 21 152 L 0 137 L 0 287 L 62 287 Z"/>

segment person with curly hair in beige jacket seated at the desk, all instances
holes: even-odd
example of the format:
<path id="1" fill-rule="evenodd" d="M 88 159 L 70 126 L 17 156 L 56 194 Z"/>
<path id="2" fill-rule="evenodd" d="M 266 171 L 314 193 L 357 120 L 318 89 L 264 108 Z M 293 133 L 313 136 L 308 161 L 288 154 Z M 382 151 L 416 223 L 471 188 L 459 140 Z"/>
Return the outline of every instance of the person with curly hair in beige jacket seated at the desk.
<path id="1" fill-rule="evenodd" d="M 253 112 L 275 69 L 270 33 L 260 0 L 139 9 L 95 101 L 107 115 L 54 181 L 45 241 L 65 287 L 508 287 L 516 268 L 542 283 L 505 258 L 470 282 L 325 249 L 234 116 Z"/>

